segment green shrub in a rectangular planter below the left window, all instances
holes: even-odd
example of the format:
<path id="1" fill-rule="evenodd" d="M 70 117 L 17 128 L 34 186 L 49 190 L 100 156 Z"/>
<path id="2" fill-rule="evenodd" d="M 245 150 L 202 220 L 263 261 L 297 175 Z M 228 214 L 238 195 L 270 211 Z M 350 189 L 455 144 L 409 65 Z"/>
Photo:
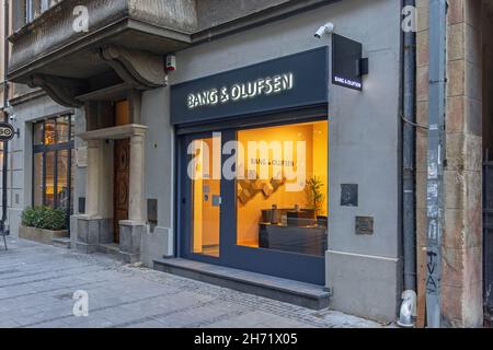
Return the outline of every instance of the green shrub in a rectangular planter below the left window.
<path id="1" fill-rule="evenodd" d="M 54 238 L 68 237 L 65 210 L 50 207 L 27 208 L 22 212 L 19 236 L 24 240 L 53 244 Z"/>

